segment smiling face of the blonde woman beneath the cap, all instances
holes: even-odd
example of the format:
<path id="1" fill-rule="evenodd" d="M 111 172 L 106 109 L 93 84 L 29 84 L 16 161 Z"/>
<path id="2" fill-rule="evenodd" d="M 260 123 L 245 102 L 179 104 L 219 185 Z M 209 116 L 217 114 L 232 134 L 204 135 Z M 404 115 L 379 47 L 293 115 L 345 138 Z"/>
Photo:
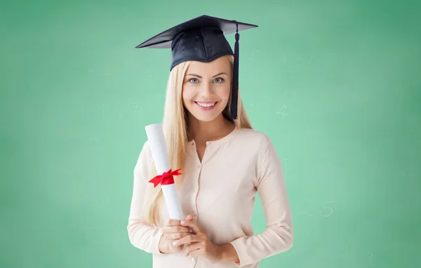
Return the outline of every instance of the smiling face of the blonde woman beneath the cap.
<path id="1" fill-rule="evenodd" d="M 222 116 L 231 92 L 232 65 L 226 56 L 212 62 L 192 62 L 182 86 L 182 100 L 199 121 Z"/>

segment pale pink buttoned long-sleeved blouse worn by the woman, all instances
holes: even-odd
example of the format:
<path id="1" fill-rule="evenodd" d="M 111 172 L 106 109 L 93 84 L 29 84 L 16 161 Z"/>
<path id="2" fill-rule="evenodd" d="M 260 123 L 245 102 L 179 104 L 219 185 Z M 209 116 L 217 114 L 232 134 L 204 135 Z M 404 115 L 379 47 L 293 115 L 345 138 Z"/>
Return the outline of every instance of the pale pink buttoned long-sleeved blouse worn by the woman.
<path id="1" fill-rule="evenodd" d="M 192 140 L 187 144 L 185 170 L 180 170 L 184 176 L 179 191 L 183 213 L 196 213 L 199 226 L 213 243 L 232 243 L 239 255 L 239 266 L 234 262 L 211 264 L 204 257 L 159 252 L 161 228 L 150 227 L 142 221 L 145 187 L 152 179 L 144 173 L 149 161 L 152 155 L 145 142 L 134 168 L 127 229 L 133 246 L 152 253 L 154 268 L 256 268 L 263 258 L 282 253 L 293 245 L 293 225 L 281 161 L 264 133 L 241 128 L 220 140 L 206 142 L 202 162 Z M 257 191 L 267 222 L 261 234 L 254 234 L 251 225 Z M 161 208 L 161 217 L 166 222 L 168 212 L 165 206 Z"/>

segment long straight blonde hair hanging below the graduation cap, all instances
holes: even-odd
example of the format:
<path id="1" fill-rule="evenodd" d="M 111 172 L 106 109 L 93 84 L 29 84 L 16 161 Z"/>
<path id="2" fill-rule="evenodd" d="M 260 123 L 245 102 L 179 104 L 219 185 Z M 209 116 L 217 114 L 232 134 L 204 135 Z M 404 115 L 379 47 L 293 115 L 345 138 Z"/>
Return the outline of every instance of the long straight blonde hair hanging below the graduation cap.
<path id="1" fill-rule="evenodd" d="M 227 56 L 232 67 L 234 66 L 234 56 Z M 168 83 L 166 86 L 166 100 L 165 107 L 163 112 L 163 133 L 166 140 L 166 145 L 168 149 L 168 158 L 170 165 L 173 169 L 181 168 L 180 172 L 185 166 L 185 152 L 186 152 L 186 142 L 187 142 L 187 110 L 185 109 L 182 103 L 182 85 L 185 79 L 185 73 L 187 72 L 187 67 L 189 67 L 190 62 L 182 62 L 179 65 L 175 66 L 168 78 Z M 231 95 L 229 96 L 227 107 L 225 107 L 222 114 L 225 118 L 229 118 L 229 110 L 231 109 Z M 237 102 L 237 119 L 234 120 L 235 127 L 239 128 L 252 128 L 250 120 L 246 114 L 246 110 L 243 107 L 243 102 L 241 101 L 240 93 L 238 94 Z M 153 161 L 149 166 L 149 177 L 154 177 L 156 175 L 156 169 L 154 167 Z M 175 186 L 179 189 L 182 183 L 182 176 L 178 175 L 174 177 Z M 147 212 L 146 220 L 150 225 L 158 227 L 162 225 L 160 217 L 160 206 L 163 198 L 161 185 L 153 187 L 152 184 L 148 184 L 147 194 L 145 195 L 145 207 L 144 209 Z"/>

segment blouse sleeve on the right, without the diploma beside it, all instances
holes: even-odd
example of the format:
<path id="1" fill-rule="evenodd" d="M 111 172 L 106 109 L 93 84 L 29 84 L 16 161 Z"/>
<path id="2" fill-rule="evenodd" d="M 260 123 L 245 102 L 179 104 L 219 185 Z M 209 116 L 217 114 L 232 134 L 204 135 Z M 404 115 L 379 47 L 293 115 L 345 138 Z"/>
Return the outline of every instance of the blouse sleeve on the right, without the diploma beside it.
<path id="1" fill-rule="evenodd" d="M 259 155 L 257 179 L 267 227 L 262 234 L 242 236 L 231 242 L 243 267 L 265 257 L 282 253 L 293 246 L 293 225 L 281 161 L 271 140 L 265 135 L 265 145 Z"/>

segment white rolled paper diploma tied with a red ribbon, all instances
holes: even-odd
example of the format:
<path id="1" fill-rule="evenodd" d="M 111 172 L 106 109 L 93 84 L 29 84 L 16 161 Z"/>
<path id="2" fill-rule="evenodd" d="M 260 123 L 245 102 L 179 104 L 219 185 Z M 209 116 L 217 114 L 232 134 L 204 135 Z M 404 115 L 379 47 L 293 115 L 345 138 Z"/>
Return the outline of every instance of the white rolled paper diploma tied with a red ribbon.
<path id="1" fill-rule="evenodd" d="M 159 175 L 161 175 L 171 168 L 170 161 L 168 159 L 168 150 L 163 136 L 162 124 L 154 123 L 145 126 L 145 130 L 156 171 Z M 174 168 L 176 169 L 177 167 Z M 178 197 L 177 189 L 175 189 L 175 185 L 161 185 L 161 188 L 170 218 L 175 220 L 184 220 L 184 217 L 182 217 L 180 199 Z"/>

